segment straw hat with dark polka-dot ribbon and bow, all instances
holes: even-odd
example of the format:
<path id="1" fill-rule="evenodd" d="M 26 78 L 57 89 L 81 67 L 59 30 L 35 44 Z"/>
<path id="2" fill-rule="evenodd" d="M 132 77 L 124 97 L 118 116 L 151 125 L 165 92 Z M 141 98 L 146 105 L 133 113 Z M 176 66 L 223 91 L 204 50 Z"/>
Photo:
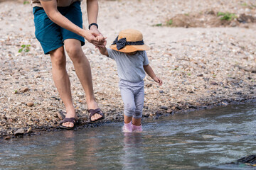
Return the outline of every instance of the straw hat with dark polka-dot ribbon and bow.
<path id="1" fill-rule="evenodd" d="M 144 45 L 142 33 L 134 29 L 122 30 L 110 48 L 119 52 L 134 52 L 150 49 L 149 46 Z"/>

